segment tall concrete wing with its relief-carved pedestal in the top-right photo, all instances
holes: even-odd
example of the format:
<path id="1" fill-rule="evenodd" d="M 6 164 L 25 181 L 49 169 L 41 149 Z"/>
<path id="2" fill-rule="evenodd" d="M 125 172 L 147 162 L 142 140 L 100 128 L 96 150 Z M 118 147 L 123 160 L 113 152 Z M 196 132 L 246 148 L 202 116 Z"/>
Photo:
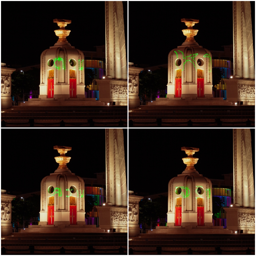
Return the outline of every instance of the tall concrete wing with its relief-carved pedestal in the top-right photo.
<path id="1" fill-rule="evenodd" d="M 227 100 L 255 105 L 255 68 L 250 1 L 233 1 L 234 75 L 227 80 Z"/>

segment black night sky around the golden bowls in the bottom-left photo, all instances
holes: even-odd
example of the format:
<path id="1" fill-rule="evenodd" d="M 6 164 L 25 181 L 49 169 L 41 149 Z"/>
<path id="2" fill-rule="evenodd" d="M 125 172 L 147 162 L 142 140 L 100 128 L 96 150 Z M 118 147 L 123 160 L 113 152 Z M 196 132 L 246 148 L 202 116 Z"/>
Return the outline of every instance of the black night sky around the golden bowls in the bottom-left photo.
<path id="1" fill-rule="evenodd" d="M 123 132 L 127 178 L 127 129 Z M 39 191 L 42 178 L 58 168 L 55 145 L 72 147 L 66 154 L 71 157 L 67 167 L 72 173 L 96 178 L 94 173 L 105 172 L 105 129 L 5 129 L 1 189 L 14 195 Z"/>

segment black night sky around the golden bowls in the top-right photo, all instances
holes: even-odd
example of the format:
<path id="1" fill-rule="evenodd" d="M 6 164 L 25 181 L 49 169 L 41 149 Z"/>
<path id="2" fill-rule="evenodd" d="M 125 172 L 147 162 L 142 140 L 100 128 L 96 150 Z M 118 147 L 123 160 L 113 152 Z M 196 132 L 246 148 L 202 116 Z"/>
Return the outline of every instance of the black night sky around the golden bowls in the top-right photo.
<path id="1" fill-rule="evenodd" d="M 254 41 L 254 1 L 251 11 Z M 195 40 L 202 47 L 223 51 L 221 46 L 233 44 L 232 1 L 130 1 L 129 61 L 142 66 L 167 63 L 169 52 L 186 39 L 182 18 L 199 19 L 193 28 L 199 30 Z"/>

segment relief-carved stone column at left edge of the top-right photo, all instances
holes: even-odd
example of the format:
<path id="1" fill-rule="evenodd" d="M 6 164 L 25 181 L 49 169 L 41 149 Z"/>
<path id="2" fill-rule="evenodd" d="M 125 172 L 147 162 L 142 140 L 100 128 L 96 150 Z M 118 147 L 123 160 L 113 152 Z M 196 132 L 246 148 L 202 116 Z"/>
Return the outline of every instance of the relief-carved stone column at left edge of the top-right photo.
<path id="1" fill-rule="evenodd" d="M 129 109 L 140 106 L 139 94 L 139 74 L 143 71 L 143 68 L 133 67 L 133 63 L 129 62 Z"/>

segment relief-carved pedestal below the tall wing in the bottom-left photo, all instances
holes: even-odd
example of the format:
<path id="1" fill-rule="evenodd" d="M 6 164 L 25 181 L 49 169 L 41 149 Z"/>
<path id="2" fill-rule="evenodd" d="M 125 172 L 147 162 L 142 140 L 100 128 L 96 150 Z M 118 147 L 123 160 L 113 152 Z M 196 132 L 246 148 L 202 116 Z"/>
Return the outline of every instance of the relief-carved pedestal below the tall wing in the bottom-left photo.
<path id="1" fill-rule="evenodd" d="M 99 211 L 99 227 L 105 232 L 127 233 L 127 207 L 96 206 Z M 108 231 L 109 230 L 109 231 Z"/>

